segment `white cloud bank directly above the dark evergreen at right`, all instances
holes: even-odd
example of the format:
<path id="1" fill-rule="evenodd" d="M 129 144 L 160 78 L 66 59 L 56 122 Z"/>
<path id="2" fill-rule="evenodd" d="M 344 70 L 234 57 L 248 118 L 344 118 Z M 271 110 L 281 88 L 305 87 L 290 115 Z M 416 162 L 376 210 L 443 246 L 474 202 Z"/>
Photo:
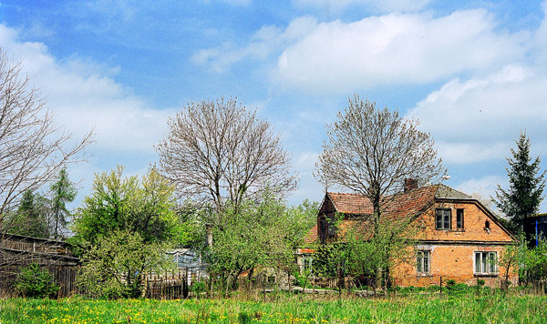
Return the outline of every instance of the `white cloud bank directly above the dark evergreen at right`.
<path id="1" fill-rule="evenodd" d="M 448 163 L 474 163 L 507 157 L 521 130 L 532 148 L 547 148 L 547 77 L 541 70 L 504 66 L 490 76 L 454 79 L 409 112 L 437 140 Z"/>

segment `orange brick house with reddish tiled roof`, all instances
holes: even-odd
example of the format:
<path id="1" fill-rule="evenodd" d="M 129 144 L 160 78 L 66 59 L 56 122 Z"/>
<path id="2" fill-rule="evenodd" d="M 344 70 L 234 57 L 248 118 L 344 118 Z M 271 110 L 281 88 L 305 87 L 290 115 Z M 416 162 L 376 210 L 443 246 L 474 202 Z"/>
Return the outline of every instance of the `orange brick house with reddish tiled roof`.
<path id="1" fill-rule="evenodd" d="M 407 221 L 408 228 L 414 228 L 406 231 L 415 242 L 408 248 L 409 257 L 390 269 L 397 286 L 439 285 L 442 278 L 468 285 L 484 279 L 488 286 L 499 287 L 506 272 L 497 260 L 514 237 L 480 201 L 444 185 L 418 187 L 414 182 L 386 201 L 381 221 Z M 336 213 L 343 214 L 337 228 L 329 221 Z M 343 241 L 347 228 L 356 224 L 365 228 L 366 239 L 372 235 L 371 222 L 366 220 L 372 213 L 364 196 L 327 192 L 306 241 Z M 512 268 L 509 280 L 512 285 L 518 281 Z"/>

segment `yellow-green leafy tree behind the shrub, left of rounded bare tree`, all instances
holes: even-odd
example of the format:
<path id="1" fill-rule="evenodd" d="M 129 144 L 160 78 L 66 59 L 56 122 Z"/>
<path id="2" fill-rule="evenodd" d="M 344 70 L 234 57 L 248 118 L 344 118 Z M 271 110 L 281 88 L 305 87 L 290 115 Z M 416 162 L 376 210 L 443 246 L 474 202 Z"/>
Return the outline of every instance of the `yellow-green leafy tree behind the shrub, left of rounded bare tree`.
<path id="1" fill-rule="evenodd" d="M 74 241 L 95 244 L 113 231 L 139 234 L 145 242 L 176 237 L 173 188 L 154 169 L 141 177 L 123 177 L 123 167 L 97 174 L 93 193 L 84 198 L 74 224 Z"/>

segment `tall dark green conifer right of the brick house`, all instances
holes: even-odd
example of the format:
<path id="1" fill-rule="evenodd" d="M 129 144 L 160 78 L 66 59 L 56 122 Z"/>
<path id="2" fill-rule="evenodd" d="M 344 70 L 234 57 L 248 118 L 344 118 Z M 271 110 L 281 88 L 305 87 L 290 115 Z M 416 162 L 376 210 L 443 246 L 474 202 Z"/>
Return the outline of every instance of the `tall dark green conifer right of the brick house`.
<path id="1" fill-rule="evenodd" d="M 521 133 L 517 149 L 511 147 L 512 158 L 507 158 L 509 167 L 506 167 L 509 176 L 509 190 L 505 191 L 498 185 L 494 201 L 507 217 L 511 219 L 513 231 L 521 231 L 524 218 L 537 214 L 543 200 L 545 187 L 545 171 L 540 176 L 540 157 L 531 163 L 530 138 Z"/>

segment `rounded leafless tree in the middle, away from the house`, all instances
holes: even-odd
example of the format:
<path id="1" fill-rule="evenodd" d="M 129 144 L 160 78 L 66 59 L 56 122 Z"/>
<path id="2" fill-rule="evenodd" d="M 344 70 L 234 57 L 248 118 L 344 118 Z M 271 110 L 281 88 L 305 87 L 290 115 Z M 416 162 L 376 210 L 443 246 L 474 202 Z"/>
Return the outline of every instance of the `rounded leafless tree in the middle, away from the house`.
<path id="1" fill-rule="evenodd" d="M 156 147 L 160 170 L 182 197 L 211 203 L 218 218 L 227 202 L 238 206 L 265 188 L 284 194 L 296 186 L 279 136 L 236 99 L 193 102 L 168 123 Z"/>

